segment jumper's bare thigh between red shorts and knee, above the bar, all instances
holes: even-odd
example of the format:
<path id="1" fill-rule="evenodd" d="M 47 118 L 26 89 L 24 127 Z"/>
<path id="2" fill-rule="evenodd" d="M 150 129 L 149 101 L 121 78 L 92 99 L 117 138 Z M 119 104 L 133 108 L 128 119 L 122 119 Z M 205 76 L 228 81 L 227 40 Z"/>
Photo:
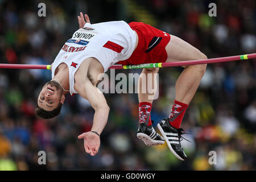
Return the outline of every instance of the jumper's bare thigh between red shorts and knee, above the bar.
<path id="1" fill-rule="evenodd" d="M 166 52 L 166 62 L 206 59 L 206 56 L 199 49 L 174 35 L 171 35 L 170 42 L 166 46 Z"/>

